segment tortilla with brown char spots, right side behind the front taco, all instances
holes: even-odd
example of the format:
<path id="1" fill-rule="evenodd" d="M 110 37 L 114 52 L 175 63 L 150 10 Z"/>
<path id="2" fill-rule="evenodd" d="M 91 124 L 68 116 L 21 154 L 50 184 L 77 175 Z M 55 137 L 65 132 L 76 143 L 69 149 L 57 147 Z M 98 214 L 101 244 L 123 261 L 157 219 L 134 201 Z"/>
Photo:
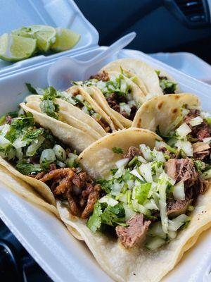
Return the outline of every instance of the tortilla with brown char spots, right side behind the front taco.
<path id="1" fill-rule="evenodd" d="M 159 126 L 160 132 L 165 135 L 172 128 L 174 121 L 181 116 L 181 108 L 199 109 L 200 102 L 196 95 L 191 93 L 167 94 L 153 97 L 145 102 L 136 113 L 132 126 L 146 128 L 153 132 Z"/>

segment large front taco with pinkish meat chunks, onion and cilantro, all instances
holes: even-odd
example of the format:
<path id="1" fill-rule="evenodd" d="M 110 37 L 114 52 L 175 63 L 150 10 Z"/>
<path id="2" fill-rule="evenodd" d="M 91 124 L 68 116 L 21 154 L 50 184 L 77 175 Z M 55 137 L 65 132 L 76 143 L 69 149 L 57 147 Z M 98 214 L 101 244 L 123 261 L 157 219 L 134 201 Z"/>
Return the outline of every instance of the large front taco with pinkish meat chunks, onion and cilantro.
<path id="1" fill-rule="evenodd" d="M 87 220 L 57 201 L 58 212 L 115 281 L 160 281 L 211 226 L 209 161 L 200 166 L 149 130 L 103 137 L 79 162 L 98 183 L 94 211 Z"/>

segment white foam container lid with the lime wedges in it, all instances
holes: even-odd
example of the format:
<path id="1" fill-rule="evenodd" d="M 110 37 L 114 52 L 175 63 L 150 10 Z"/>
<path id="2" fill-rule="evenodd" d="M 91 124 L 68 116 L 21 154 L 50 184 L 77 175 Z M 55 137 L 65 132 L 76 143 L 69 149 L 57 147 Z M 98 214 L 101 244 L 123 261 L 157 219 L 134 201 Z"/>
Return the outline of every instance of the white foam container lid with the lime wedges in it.
<path id="1" fill-rule="evenodd" d="M 0 7 L 0 35 L 28 25 L 65 27 L 81 35 L 75 47 L 68 51 L 34 56 L 17 63 L 0 59 L 0 75 L 61 56 L 71 56 L 98 45 L 97 30 L 83 16 L 73 0 L 0 0 Z"/>

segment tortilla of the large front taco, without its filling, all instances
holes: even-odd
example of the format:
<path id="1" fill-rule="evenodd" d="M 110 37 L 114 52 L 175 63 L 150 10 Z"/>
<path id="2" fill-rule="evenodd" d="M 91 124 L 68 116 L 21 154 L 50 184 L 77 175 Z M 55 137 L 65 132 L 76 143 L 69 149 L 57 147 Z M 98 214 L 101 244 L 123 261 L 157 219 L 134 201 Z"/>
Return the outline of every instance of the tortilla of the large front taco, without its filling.
<path id="1" fill-rule="evenodd" d="M 121 147 L 127 152 L 129 147 L 146 144 L 151 148 L 160 137 L 149 130 L 129 128 L 112 133 L 96 141 L 79 156 L 83 168 L 94 177 L 106 177 L 115 161 L 121 157 L 114 154 L 113 147 Z M 179 262 L 184 252 L 192 247 L 200 233 L 211 226 L 211 189 L 198 197 L 191 223 L 179 232 L 177 238 L 158 250 L 145 248 L 125 249 L 116 239 L 101 233 L 93 234 L 86 226 L 86 221 L 71 216 L 68 209 L 57 203 L 61 219 L 67 226 L 75 228 L 82 236 L 94 257 L 115 281 L 158 282 Z"/>

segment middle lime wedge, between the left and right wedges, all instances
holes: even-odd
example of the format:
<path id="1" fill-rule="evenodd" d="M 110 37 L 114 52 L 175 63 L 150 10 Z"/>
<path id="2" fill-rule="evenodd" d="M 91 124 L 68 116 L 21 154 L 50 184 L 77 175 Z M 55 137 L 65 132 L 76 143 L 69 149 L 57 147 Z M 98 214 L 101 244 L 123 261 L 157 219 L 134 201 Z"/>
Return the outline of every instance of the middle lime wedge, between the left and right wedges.
<path id="1" fill-rule="evenodd" d="M 12 34 L 37 39 L 37 49 L 44 52 L 49 51 L 56 41 L 56 30 L 49 25 L 30 25 L 13 30 Z"/>

